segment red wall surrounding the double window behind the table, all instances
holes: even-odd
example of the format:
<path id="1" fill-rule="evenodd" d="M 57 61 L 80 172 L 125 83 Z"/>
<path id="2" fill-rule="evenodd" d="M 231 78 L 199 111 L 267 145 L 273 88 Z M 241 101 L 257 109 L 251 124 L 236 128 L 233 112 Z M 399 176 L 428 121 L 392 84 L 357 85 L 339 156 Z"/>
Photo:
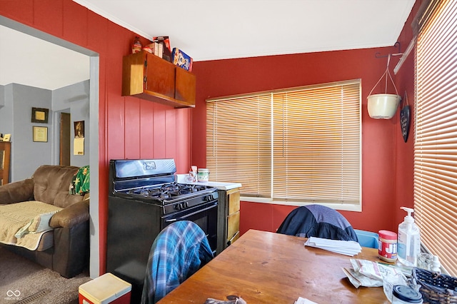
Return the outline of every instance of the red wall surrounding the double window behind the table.
<path id="1" fill-rule="evenodd" d="M 410 24 L 416 11 L 417 4 L 401 34 L 401 51 L 406 49 L 411 40 Z M 399 206 L 413 206 L 413 132 L 411 130 L 408 143 L 403 143 L 398 124 L 399 111 L 390 120 L 377 120 L 368 116 L 367 96 L 386 71 L 387 64 L 387 58 L 375 57 L 377 52 L 383 56 L 398 53 L 398 49 L 386 47 L 195 62 L 194 74 L 198 81 L 197 106 L 192 112 L 192 163 L 199 167 L 206 166 L 206 98 L 361 78 L 362 212 L 341 213 L 357 229 L 396 231 L 403 218 Z M 412 58 L 413 54 L 402 66 L 398 76 L 394 76 L 393 68 L 400 56 L 393 57 L 390 64 L 398 94 L 403 96 L 407 90 L 411 106 Z M 383 90 L 383 86 L 377 86 L 373 93 L 384 93 Z M 388 91 L 393 92 L 393 88 Z M 243 201 L 241 233 L 251 228 L 276 231 L 293 208 L 296 207 Z"/>

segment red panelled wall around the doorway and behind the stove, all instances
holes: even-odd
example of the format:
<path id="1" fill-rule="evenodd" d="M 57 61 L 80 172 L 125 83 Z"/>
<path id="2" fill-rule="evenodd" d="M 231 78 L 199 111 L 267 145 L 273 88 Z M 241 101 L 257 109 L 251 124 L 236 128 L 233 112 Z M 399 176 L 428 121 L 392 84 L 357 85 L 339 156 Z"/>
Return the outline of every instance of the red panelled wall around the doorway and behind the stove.
<path id="1" fill-rule="evenodd" d="M 136 34 L 74 1 L 2 0 L 0 15 L 99 53 L 99 238 L 104 273 L 109 160 L 175 158 L 179 173 L 189 171 L 191 109 L 121 96 L 122 56 L 129 54 Z"/>

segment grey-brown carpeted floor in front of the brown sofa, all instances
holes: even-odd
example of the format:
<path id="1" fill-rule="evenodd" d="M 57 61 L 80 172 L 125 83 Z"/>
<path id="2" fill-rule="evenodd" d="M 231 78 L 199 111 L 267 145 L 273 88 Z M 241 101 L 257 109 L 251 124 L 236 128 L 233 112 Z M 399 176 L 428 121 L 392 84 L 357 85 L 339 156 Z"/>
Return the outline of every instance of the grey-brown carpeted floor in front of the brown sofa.
<path id="1" fill-rule="evenodd" d="M 0 303 L 76 304 L 79 285 L 88 273 L 64 278 L 55 271 L 0 248 Z"/>

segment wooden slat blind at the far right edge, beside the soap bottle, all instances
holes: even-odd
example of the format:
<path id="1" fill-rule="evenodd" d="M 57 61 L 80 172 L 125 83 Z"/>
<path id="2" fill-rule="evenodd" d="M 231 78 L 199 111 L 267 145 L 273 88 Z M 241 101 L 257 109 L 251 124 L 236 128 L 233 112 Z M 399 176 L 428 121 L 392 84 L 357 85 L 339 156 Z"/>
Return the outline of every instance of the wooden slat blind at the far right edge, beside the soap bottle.
<path id="1" fill-rule="evenodd" d="M 457 275 L 457 1 L 432 1 L 416 46 L 414 208 L 423 245 Z"/>

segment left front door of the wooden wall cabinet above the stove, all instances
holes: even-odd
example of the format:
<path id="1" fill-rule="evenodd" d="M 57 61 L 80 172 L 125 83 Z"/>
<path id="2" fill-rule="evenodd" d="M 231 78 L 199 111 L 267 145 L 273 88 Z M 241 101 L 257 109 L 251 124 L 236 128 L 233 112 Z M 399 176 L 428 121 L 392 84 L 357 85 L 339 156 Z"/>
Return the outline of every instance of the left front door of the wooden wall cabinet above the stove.
<path id="1" fill-rule="evenodd" d="M 146 54 L 145 91 L 174 98 L 175 66 L 153 54 Z"/>

